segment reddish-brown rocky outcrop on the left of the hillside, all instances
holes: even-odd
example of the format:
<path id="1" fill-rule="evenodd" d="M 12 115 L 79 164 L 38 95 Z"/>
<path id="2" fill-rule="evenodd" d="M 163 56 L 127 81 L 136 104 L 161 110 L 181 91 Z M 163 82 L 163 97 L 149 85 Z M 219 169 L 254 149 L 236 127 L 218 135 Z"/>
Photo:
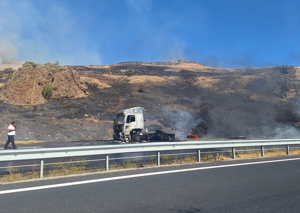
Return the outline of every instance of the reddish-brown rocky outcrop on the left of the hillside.
<path id="1" fill-rule="evenodd" d="M 1 87 L 0 100 L 13 105 L 44 104 L 47 100 L 42 91 L 47 84 L 53 86 L 50 99 L 85 97 L 89 95 L 87 86 L 79 79 L 71 67 L 26 61 Z"/>

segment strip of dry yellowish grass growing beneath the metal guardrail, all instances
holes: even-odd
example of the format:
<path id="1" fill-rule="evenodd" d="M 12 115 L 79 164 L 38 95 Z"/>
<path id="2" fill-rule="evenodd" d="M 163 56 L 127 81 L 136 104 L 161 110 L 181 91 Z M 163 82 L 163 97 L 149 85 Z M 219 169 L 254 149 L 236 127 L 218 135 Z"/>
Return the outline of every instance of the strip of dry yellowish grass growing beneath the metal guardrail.
<path id="1" fill-rule="evenodd" d="M 300 154 L 299 149 L 291 149 L 289 152 L 290 155 L 298 155 Z M 274 149 L 270 152 L 264 152 L 264 156 L 281 156 L 286 155 L 285 150 Z M 246 152 L 235 152 L 236 159 L 243 158 L 256 158 L 261 157 L 260 151 L 246 151 Z M 213 155 L 212 153 L 207 153 L 205 155 L 201 155 L 201 162 L 209 162 L 209 161 L 220 161 L 220 160 L 229 160 L 232 159 L 231 152 L 218 153 L 217 155 Z M 72 161 L 72 160 L 71 160 Z M 171 155 L 163 155 L 161 156 L 161 165 L 173 165 L 173 164 L 184 164 L 184 163 L 195 163 L 197 159 L 193 155 L 189 154 L 171 154 Z M 122 163 L 113 162 L 109 165 L 110 170 L 118 170 L 118 169 L 128 169 L 128 168 L 140 168 L 140 167 L 152 167 L 156 166 L 156 158 L 151 156 L 147 161 L 139 162 L 137 160 L 134 161 L 126 161 Z M 44 170 L 43 177 L 57 177 L 71 174 L 85 174 L 91 172 L 99 172 L 105 171 L 104 164 L 99 165 L 88 165 L 86 159 L 73 159 L 73 162 L 67 163 L 56 163 L 53 164 L 51 169 Z M 18 167 L 10 167 L 7 174 L 0 175 L 0 182 L 13 182 L 19 180 L 27 180 L 27 179 L 35 179 L 39 178 L 39 166 L 33 166 L 32 171 L 19 171 Z"/>

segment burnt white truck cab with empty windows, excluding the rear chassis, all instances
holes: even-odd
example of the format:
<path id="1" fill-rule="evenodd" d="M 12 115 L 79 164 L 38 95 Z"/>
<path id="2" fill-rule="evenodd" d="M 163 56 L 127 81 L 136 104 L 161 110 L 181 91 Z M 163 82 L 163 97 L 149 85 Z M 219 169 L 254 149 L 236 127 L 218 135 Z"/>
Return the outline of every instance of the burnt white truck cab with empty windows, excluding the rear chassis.
<path id="1" fill-rule="evenodd" d="M 140 106 L 119 111 L 114 121 L 113 140 L 129 142 L 135 139 L 135 142 L 140 142 L 145 139 L 147 129 L 144 127 L 143 112 L 146 110 Z"/>

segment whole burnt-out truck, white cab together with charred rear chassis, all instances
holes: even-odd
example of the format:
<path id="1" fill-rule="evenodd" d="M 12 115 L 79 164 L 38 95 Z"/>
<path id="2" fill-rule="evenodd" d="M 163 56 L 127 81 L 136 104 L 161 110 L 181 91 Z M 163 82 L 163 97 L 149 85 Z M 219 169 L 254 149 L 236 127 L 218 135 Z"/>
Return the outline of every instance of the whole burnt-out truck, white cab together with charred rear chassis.
<path id="1" fill-rule="evenodd" d="M 115 117 L 113 140 L 121 142 L 142 142 L 142 141 L 173 141 L 175 134 L 164 133 L 155 130 L 155 133 L 148 133 L 144 126 L 143 107 L 124 109 L 118 112 Z"/>

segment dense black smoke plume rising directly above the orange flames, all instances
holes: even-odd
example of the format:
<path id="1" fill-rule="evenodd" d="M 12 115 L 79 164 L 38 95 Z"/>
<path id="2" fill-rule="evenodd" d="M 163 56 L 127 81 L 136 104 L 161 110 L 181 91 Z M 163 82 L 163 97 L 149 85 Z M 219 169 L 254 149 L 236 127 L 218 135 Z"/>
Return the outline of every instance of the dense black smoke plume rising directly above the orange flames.
<path id="1" fill-rule="evenodd" d="M 192 128 L 191 134 L 197 135 L 199 138 L 202 138 L 203 135 L 206 135 L 208 131 L 213 127 L 213 119 L 209 110 L 214 109 L 215 105 L 211 102 L 205 101 L 199 106 L 200 111 L 199 115 L 196 118 L 198 124 Z"/>

